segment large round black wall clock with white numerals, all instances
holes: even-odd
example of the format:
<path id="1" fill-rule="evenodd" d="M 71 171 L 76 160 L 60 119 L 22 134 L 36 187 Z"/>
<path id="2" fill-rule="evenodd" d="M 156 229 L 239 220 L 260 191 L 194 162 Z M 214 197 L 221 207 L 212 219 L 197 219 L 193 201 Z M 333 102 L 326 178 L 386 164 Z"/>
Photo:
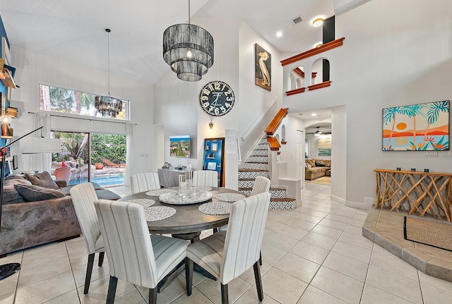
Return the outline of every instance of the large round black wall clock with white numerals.
<path id="1" fill-rule="evenodd" d="M 199 93 L 199 103 L 207 114 L 223 116 L 234 106 L 234 91 L 222 81 L 211 81 Z"/>

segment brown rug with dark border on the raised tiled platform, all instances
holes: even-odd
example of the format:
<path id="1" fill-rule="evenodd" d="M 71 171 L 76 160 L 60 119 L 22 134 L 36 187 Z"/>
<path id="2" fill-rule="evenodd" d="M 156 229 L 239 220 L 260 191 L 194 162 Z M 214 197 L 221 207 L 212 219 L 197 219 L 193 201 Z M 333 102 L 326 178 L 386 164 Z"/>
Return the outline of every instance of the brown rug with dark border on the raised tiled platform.
<path id="1" fill-rule="evenodd" d="M 405 240 L 452 251 L 451 236 L 452 225 L 412 217 L 403 219 Z"/>

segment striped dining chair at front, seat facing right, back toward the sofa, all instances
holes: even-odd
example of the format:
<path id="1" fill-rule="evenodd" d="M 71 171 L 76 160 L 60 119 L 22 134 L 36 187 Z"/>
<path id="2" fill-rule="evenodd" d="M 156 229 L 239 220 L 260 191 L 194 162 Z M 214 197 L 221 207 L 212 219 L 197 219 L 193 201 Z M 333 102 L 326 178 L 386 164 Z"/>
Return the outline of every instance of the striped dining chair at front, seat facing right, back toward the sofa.
<path id="1" fill-rule="evenodd" d="M 157 284 L 179 262 L 186 262 L 189 242 L 167 236 L 150 236 L 141 205 L 97 200 L 95 208 L 110 269 L 107 303 L 114 303 L 118 279 L 149 288 L 148 303 L 156 303 Z"/>

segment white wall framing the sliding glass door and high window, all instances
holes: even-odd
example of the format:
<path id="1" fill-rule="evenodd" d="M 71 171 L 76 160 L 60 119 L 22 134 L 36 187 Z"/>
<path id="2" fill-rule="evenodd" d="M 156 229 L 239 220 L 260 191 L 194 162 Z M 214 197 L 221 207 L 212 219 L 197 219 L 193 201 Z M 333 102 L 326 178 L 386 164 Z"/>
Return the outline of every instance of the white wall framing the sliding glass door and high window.
<path id="1" fill-rule="evenodd" d="M 80 64 L 44 56 L 32 51 L 11 46 L 13 66 L 16 67 L 15 80 L 20 88 L 11 92 L 11 107 L 18 107 L 19 118 L 11 126 L 15 135 L 24 135 L 33 130 L 33 115 L 39 108 L 40 83 L 66 87 L 82 92 L 105 95 L 108 92 L 108 74 Z M 141 171 L 156 171 L 153 160 L 154 121 L 153 87 L 134 80 L 111 75 L 111 94 L 121 99 L 129 99 L 131 104 L 131 121 L 136 123 L 133 140 L 133 164 L 131 174 Z M 124 124 L 61 118 L 52 116 L 54 130 L 97 131 L 125 134 Z M 11 147 L 12 154 L 19 153 L 20 142 Z M 148 154 L 150 157 L 140 157 Z M 28 157 L 21 157 L 20 169 L 28 169 Z"/>

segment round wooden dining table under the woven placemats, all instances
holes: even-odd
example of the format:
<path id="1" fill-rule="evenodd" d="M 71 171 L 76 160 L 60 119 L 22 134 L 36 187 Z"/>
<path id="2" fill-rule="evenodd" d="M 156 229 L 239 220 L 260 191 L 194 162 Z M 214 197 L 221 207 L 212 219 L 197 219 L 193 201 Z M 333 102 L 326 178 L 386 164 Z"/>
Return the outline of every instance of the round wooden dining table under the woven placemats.
<path id="1" fill-rule="evenodd" d="M 171 217 L 157 221 L 148 221 L 149 232 L 158 234 L 172 234 L 175 237 L 194 240 L 196 239 L 196 235 L 199 235 L 201 231 L 206 229 L 215 229 L 219 226 L 227 224 L 227 222 L 229 221 L 229 214 L 204 214 L 198 209 L 200 205 L 207 202 L 222 202 L 221 200 L 217 200 L 215 198 L 215 195 L 218 195 L 220 193 L 235 193 L 243 195 L 243 193 L 237 190 L 228 188 L 210 188 L 212 188 L 212 190 L 209 191 L 210 193 L 212 193 L 212 198 L 210 198 L 209 200 L 184 205 L 174 205 L 160 202 L 158 196 L 147 195 L 146 193 L 148 193 L 149 191 L 128 195 L 126 197 L 122 197 L 120 200 L 128 201 L 148 198 L 155 201 L 152 207 L 166 206 L 176 209 L 176 213 Z M 179 190 L 179 188 L 162 188 L 161 190 L 163 189 Z M 244 197 L 245 196 L 246 195 L 244 195 Z"/>

